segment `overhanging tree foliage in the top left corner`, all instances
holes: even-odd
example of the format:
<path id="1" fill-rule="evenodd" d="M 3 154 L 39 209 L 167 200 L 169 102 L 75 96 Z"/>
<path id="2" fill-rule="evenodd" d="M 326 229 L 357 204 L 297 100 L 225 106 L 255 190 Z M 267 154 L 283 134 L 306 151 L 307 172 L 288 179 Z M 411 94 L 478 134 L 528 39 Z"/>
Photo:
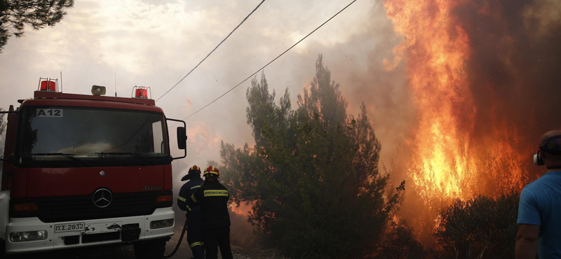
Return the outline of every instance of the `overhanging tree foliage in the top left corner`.
<path id="1" fill-rule="evenodd" d="M 0 0 L 0 52 L 11 35 L 23 35 L 25 25 L 54 26 L 72 6 L 74 0 Z"/>

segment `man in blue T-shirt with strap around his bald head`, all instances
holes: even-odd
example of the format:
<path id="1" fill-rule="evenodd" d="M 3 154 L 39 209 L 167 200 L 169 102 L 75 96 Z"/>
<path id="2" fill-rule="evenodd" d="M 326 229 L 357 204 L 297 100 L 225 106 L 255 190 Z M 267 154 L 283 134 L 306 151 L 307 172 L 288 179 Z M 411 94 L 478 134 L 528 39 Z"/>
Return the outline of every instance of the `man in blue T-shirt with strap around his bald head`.
<path id="1" fill-rule="evenodd" d="M 561 131 L 543 134 L 534 163 L 548 172 L 520 193 L 515 258 L 561 258 Z"/>

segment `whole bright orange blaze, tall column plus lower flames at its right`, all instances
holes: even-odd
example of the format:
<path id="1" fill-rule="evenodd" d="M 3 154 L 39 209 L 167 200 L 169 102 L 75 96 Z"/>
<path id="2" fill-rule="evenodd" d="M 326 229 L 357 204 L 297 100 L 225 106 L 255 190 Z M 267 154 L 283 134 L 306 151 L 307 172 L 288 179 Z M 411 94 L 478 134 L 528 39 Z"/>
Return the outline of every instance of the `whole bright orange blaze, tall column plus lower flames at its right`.
<path id="1" fill-rule="evenodd" d="M 461 1 L 384 2 L 394 30 L 404 37 L 393 50 L 393 62 L 384 59 L 384 66 L 395 69 L 406 61 L 418 118 L 407 143 L 414 151 L 407 174 L 425 204 L 471 197 L 485 191 L 489 178 L 500 179 L 494 183 L 499 188 L 522 184 L 524 158 L 515 152 L 514 133 L 498 123 L 489 126 L 495 132 L 485 143 L 472 137 L 477 110 L 466 71 L 472 49 L 451 13 L 458 4 Z"/>

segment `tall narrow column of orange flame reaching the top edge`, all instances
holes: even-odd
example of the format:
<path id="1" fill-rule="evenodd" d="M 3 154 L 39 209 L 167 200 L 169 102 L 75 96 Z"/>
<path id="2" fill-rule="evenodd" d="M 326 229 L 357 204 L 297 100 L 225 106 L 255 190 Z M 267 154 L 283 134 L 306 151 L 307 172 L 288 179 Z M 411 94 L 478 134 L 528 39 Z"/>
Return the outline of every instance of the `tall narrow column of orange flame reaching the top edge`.
<path id="1" fill-rule="evenodd" d="M 466 156 L 475 106 L 464 70 L 470 54 L 468 36 L 450 18 L 454 1 L 398 0 L 384 6 L 395 31 L 406 38 L 394 50 L 396 60 L 405 51 L 412 54 L 407 56 L 407 73 L 419 124 L 410 143 L 417 154 L 410 176 L 416 186 L 424 187 L 425 199 L 464 197 L 470 187 L 466 185 L 475 179 L 473 161 Z M 388 62 L 384 64 L 387 67 Z"/>

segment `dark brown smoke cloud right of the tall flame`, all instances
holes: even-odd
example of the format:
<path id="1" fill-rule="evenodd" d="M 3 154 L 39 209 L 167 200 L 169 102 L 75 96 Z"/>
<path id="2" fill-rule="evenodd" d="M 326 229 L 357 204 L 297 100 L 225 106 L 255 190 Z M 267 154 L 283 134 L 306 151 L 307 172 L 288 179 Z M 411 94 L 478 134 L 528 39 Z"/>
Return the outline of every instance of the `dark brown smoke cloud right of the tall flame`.
<path id="1" fill-rule="evenodd" d="M 477 0 L 453 11 L 471 45 L 466 71 L 476 110 L 473 141 L 485 146 L 495 131 L 506 130 L 531 163 L 541 134 L 561 127 L 555 112 L 560 10 L 558 1 Z M 529 180 L 541 172 L 528 170 Z"/>

